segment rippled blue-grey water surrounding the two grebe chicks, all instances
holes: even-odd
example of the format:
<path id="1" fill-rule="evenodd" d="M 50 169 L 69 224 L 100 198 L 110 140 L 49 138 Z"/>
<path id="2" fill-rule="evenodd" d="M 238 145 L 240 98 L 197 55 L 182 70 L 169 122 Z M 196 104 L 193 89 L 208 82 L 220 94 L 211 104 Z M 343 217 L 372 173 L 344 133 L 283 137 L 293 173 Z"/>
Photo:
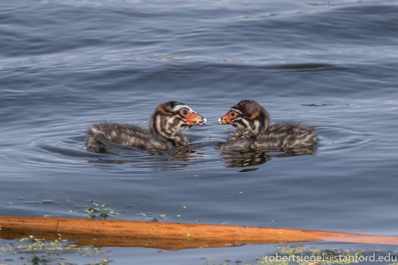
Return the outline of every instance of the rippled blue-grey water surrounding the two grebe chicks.
<path id="1" fill-rule="evenodd" d="M 93 200 L 110 219 L 396 236 L 398 1 L 3 1 L 0 36 L 1 215 L 87 218 Z M 315 126 L 316 153 L 217 150 L 242 99 Z M 91 122 L 147 127 L 167 100 L 208 119 L 185 153 L 86 151 Z M 275 251 L 244 248 L 107 250 L 115 264 Z"/>

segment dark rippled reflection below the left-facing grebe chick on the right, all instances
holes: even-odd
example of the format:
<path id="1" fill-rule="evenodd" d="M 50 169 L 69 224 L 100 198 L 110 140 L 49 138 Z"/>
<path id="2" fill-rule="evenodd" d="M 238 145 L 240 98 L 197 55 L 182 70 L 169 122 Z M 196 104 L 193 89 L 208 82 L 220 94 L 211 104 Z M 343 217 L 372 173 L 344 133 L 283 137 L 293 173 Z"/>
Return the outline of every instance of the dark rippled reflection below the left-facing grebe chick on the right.
<path id="1" fill-rule="evenodd" d="M 217 143 L 220 145 L 222 143 Z M 217 146 L 216 145 L 216 146 Z M 226 160 L 226 168 L 244 168 L 258 166 L 272 159 L 272 157 L 289 157 L 300 155 L 313 155 L 315 146 L 297 149 L 271 149 L 263 151 L 221 151 L 220 157 Z M 253 169 L 255 170 L 255 169 Z M 246 172 L 245 170 L 244 172 Z"/>

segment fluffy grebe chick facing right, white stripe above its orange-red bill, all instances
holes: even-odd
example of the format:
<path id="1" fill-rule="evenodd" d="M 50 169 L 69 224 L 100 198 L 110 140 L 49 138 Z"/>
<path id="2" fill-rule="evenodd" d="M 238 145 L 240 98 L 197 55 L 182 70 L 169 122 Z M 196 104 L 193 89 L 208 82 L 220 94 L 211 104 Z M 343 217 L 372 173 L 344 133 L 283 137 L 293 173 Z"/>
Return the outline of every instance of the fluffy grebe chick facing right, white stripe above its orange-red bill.
<path id="1" fill-rule="evenodd" d="M 98 143 L 102 144 L 102 141 L 95 140 L 95 134 L 97 138 L 103 134 L 107 140 L 118 145 L 143 150 L 175 149 L 189 143 L 182 131 L 194 125 L 204 125 L 206 121 L 186 104 L 168 101 L 155 109 L 149 120 L 149 129 L 106 121 L 92 124 L 87 130 L 86 146 L 92 149 Z"/>

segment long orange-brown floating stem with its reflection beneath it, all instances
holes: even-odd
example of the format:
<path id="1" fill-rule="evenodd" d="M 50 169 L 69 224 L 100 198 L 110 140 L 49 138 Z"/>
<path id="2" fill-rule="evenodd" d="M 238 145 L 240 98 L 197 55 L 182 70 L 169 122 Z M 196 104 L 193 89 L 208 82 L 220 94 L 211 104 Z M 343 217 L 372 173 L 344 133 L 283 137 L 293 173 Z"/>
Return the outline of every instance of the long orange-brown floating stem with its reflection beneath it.
<path id="1" fill-rule="evenodd" d="M 243 244 L 336 241 L 398 245 L 398 237 L 326 231 L 204 225 L 198 223 L 0 217 L 0 237 L 78 239 L 80 246 L 146 247 L 178 250 Z"/>

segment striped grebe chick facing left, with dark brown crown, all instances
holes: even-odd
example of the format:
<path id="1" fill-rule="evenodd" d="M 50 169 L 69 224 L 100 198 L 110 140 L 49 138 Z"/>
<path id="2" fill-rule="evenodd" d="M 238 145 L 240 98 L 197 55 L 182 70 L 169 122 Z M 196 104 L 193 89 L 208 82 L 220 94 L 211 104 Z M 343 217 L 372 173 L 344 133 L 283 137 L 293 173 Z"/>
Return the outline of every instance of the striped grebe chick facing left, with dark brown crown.
<path id="1" fill-rule="evenodd" d="M 254 100 L 242 100 L 232 106 L 218 122 L 237 128 L 220 149 L 281 150 L 310 147 L 316 141 L 315 130 L 309 125 L 292 122 L 270 125 L 268 112 Z"/>

